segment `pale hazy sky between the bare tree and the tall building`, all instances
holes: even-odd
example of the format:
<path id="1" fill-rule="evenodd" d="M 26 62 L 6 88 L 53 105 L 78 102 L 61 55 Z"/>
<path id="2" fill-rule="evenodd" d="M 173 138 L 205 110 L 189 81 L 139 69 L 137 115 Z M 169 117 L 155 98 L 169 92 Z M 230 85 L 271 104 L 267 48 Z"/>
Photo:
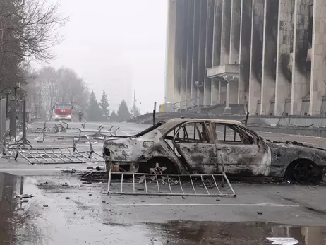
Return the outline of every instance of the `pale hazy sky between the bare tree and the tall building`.
<path id="1" fill-rule="evenodd" d="M 54 49 L 52 66 L 73 68 L 98 99 L 102 90 L 114 93 L 111 109 L 123 98 L 131 106 L 133 89 L 142 113 L 164 101 L 167 0 L 59 3 L 70 21 L 61 30 L 64 41 Z"/>

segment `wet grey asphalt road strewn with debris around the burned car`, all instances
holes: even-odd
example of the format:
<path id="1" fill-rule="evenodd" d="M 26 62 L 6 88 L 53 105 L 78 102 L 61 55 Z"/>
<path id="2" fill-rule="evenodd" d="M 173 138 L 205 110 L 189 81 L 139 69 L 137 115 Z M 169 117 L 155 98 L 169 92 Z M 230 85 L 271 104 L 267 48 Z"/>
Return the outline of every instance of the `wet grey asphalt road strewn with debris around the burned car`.
<path id="1" fill-rule="evenodd" d="M 118 134 L 147 127 L 116 126 L 121 128 Z M 324 138 L 261 135 L 326 147 Z M 72 144 L 57 138 L 37 143 L 35 133 L 28 139 L 44 148 Z M 102 151 L 102 142 L 92 145 Z M 85 184 L 77 173 L 61 172 L 93 165 L 28 165 L 23 159 L 1 159 L 0 223 L 7 229 L 0 229 L 0 244 L 326 244 L 324 185 L 233 183 L 235 198 L 119 196 L 107 195 L 107 183 Z M 114 182 L 111 188 L 119 186 Z M 140 187 L 143 184 L 137 184 Z M 14 198 L 20 193 L 34 196 L 20 203 Z"/>

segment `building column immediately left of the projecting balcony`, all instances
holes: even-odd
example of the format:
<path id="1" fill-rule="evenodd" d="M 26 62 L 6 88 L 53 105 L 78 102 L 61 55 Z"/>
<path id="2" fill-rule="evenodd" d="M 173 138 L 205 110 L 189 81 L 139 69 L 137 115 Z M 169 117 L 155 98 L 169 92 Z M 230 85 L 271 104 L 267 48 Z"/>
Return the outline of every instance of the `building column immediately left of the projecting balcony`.
<path id="1" fill-rule="evenodd" d="M 198 52 L 198 82 L 199 105 L 204 104 L 204 81 L 205 71 L 205 49 L 206 49 L 206 22 L 207 22 L 207 0 L 200 0 L 200 23 L 199 23 L 199 52 Z"/>

